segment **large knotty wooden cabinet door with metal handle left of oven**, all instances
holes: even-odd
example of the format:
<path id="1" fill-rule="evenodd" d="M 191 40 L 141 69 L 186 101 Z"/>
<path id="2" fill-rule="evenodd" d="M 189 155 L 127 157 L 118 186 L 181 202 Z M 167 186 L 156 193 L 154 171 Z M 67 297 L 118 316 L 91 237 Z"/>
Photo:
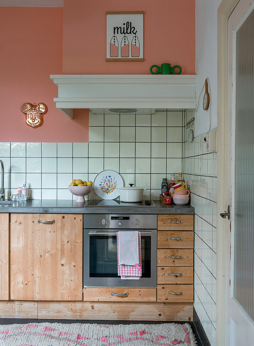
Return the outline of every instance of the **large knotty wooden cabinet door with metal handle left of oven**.
<path id="1" fill-rule="evenodd" d="M 10 299 L 82 300 L 82 215 L 11 214 L 10 233 Z"/>

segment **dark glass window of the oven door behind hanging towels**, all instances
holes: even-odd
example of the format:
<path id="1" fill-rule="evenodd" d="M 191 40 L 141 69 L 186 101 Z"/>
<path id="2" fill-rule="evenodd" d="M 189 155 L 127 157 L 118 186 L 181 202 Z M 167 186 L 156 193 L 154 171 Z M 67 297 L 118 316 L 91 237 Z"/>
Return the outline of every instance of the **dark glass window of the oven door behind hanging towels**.
<path id="1" fill-rule="evenodd" d="M 90 236 L 90 277 L 117 274 L 117 240 L 114 236 Z M 151 236 L 141 236 L 142 277 L 151 277 Z"/>

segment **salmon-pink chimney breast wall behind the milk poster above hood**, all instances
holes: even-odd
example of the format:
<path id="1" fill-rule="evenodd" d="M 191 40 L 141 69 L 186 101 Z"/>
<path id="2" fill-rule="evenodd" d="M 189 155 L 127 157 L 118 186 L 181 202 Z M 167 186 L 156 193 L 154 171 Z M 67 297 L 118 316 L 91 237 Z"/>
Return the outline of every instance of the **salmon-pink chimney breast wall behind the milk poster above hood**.
<path id="1" fill-rule="evenodd" d="M 116 0 L 64 0 L 63 73 L 149 74 L 169 62 L 195 74 L 195 0 L 135 0 L 144 14 L 144 62 L 106 62 L 106 11 Z M 120 0 L 113 11 L 138 11 Z"/>

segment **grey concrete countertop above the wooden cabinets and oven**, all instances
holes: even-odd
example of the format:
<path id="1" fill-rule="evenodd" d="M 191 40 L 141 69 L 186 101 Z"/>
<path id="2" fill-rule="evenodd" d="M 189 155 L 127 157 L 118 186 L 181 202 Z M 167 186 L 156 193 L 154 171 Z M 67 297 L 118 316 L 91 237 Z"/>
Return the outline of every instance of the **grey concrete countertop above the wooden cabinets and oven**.
<path id="1" fill-rule="evenodd" d="M 176 206 L 175 204 L 162 204 L 154 201 L 155 206 L 95 206 L 89 205 L 91 201 L 86 201 L 84 205 L 77 205 L 72 200 L 28 200 L 26 203 L 1 204 L 1 213 L 68 213 L 68 214 L 194 214 L 194 207 Z M 99 202 L 99 201 L 98 201 Z"/>

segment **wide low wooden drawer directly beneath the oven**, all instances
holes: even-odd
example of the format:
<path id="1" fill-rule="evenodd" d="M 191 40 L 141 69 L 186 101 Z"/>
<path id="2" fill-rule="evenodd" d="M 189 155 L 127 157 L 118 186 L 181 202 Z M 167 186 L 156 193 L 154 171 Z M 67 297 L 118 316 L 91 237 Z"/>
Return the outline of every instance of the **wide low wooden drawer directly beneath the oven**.
<path id="1" fill-rule="evenodd" d="M 115 294 L 125 294 L 118 297 Z M 87 287 L 84 288 L 85 301 L 127 301 L 127 302 L 155 302 L 156 288 L 129 288 L 129 287 Z"/>

